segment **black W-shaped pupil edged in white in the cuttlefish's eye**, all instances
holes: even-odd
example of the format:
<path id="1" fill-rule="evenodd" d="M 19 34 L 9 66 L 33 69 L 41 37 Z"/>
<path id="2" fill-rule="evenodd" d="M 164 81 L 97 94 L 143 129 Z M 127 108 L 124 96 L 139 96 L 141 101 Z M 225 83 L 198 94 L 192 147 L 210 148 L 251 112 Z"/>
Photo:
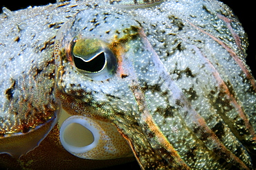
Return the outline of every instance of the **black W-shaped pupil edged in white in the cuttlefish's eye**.
<path id="1" fill-rule="evenodd" d="M 98 54 L 93 60 L 91 61 L 83 61 L 80 58 L 74 57 L 75 67 L 80 70 L 84 70 L 86 72 L 100 72 L 105 64 L 105 55 L 104 52 Z"/>

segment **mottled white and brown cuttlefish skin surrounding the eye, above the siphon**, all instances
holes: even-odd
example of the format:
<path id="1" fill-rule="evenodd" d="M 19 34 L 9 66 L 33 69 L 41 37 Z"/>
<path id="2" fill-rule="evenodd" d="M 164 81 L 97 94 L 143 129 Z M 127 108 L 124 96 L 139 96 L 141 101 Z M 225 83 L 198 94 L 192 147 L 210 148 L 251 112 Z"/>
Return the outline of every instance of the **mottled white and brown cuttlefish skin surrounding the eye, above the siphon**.
<path id="1" fill-rule="evenodd" d="M 1 15 L 10 29 L 0 34 L 0 142 L 51 123 L 61 105 L 116 125 L 142 169 L 253 169 L 255 79 L 230 9 L 219 1 L 127 3 L 71 1 L 20 19 Z M 104 42 L 116 68 L 82 74 L 74 37 Z"/>

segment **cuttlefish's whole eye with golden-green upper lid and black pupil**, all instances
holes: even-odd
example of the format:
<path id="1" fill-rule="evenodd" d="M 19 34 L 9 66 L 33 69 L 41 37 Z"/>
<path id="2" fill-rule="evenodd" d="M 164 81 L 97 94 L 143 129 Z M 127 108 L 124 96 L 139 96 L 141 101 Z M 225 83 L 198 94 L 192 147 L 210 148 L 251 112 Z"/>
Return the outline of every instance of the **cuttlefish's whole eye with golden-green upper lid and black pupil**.
<path id="1" fill-rule="evenodd" d="M 76 70 L 95 80 L 107 79 L 116 72 L 116 56 L 98 39 L 75 38 L 71 56 Z"/>

